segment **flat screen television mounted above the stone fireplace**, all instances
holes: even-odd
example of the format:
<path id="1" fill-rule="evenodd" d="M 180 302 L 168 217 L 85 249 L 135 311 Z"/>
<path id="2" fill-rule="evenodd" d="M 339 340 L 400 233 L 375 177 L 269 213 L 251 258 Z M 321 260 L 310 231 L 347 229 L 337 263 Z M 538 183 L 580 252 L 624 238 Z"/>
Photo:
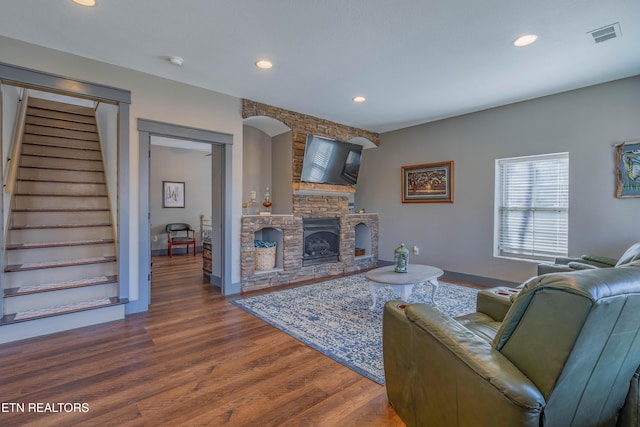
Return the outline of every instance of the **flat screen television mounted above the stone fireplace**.
<path id="1" fill-rule="evenodd" d="M 358 181 L 361 153 L 361 145 L 308 135 L 300 180 L 353 186 Z"/>

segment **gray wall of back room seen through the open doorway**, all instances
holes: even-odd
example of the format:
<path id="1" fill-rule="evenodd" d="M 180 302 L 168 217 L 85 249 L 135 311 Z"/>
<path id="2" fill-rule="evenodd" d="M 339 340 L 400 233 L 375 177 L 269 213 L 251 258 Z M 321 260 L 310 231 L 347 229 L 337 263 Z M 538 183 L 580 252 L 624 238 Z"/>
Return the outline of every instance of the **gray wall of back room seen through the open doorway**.
<path id="1" fill-rule="evenodd" d="M 168 223 L 186 222 L 199 233 L 200 215 L 211 217 L 211 157 L 205 154 L 202 151 L 151 145 L 149 191 L 153 254 L 167 249 L 164 227 Z M 184 208 L 162 207 L 162 181 L 185 183 Z M 198 246 L 201 246 L 199 234 L 196 236 Z M 183 250 L 184 247 L 177 252 Z"/>

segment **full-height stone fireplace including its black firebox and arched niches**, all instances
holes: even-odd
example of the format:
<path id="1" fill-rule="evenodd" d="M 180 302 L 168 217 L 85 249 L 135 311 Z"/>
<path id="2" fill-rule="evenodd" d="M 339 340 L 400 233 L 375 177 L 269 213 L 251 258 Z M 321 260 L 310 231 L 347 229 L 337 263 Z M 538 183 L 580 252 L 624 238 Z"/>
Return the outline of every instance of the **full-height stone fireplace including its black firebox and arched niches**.
<path id="1" fill-rule="evenodd" d="M 288 165 L 291 186 L 280 185 L 274 191 L 281 197 L 281 214 L 272 211 L 270 215 L 242 217 L 242 290 L 328 278 L 375 267 L 378 215 L 349 213 L 348 202 L 354 187 L 303 183 L 300 175 L 308 134 L 341 141 L 365 139 L 373 145 L 379 144 L 379 135 L 246 99 L 242 100 L 242 117 L 270 117 L 286 125 L 291 130 L 292 157 Z M 284 178 L 278 182 L 287 181 L 287 167 L 277 170 Z M 255 239 L 277 241 L 274 269 L 255 269 Z"/>

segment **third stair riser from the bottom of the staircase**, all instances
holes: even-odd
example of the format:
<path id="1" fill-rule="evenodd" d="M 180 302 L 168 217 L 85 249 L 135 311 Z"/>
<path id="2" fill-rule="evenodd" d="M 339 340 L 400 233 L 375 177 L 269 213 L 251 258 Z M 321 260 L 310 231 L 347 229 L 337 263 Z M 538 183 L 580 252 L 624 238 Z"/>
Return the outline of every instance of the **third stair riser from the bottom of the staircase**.
<path id="1" fill-rule="evenodd" d="M 17 288 L 20 285 L 42 285 L 46 283 L 77 280 L 83 277 L 113 276 L 118 274 L 115 262 L 76 265 L 43 270 L 14 271 L 4 273 L 4 287 Z"/>

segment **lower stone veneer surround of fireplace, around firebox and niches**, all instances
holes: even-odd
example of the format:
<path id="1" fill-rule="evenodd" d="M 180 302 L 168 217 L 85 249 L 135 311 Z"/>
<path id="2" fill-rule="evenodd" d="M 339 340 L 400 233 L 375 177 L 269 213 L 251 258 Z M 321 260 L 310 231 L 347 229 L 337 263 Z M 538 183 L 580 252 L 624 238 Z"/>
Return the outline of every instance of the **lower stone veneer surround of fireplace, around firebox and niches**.
<path id="1" fill-rule="evenodd" d="M 340 259 L 338 262 L 302 266 L 303 218 L 340 218 Z M 356 226 L 364 224 L 371 233 L 371 248 L 365 256 L 355 256 Z M 255 233 L 273 228 L 282 233 L 281 265 L 274 270 L 255 271 Z M 347 198 L 327 195 L 294 195 L 293 215 L 246 215 L 242 217 L 242 290 L 269 288 L 303 280 L 324 278 L 373 268 L 378 263 L 378 216 L 349 214 Z"/>

